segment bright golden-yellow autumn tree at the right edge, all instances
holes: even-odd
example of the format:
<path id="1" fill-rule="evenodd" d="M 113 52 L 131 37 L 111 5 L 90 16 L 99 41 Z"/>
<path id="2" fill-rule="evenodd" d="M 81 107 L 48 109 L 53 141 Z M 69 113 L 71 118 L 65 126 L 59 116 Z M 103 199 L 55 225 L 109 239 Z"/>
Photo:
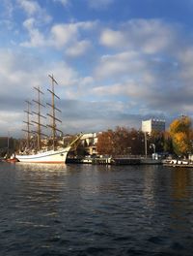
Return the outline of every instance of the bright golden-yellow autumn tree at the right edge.
<path id="1" fill-rule="evenodd" d="M 188 116 L 180 116 L 170 125 L 170 136 L 177 155 L 187 155 L 191 151 L 192 122 Z"/>

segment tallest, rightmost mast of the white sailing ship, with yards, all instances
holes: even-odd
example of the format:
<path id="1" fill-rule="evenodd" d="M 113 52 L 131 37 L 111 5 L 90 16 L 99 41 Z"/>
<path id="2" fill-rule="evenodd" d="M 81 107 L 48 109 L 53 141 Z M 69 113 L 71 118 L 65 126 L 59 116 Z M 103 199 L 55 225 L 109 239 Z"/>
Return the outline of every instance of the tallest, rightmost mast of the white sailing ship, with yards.
<path id="1" fill-rule="evenodd" d="M 56 108 L 55 106 L 55 98 L 60 99 L 56 94 L 55 94 L 55 84 L 58 84 L 58 82 L 54 79 L 53 75 L 48 77 L 51 79 L 51 90 L 47 89 L 51 93 L 51 104 L 47 103 L 49 107 L 51 107 L 51 113 L 47 113 L 47 115 L 51 118 L 51 124 L 48 124 L 47 127 L 51 128 L 52 130 L 52 140 L 53 140 L 53 150 L 56 149 L 56 138 L 57 138 L 57 131 L 61 132 L 57 128 L 57 123 L 56 121 L 62 123 L 62 121 L 58 118 L 56 118 L 56 111 L 61 112 L 59 109 Z"/>

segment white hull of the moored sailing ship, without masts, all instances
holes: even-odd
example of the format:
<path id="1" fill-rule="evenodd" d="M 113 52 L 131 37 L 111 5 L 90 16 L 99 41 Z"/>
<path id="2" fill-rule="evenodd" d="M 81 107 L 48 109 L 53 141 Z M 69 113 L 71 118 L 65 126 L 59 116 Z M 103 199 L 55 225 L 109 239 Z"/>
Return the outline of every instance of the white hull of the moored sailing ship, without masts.
<path id="1" fill-rule="evenodd" d="M 48 150 L 45 152 L 39 152 L 37 154 L 27 155 L 15 155 L 19 162 L 25 163 L 65 163 L 69 148 L 65 147 L 57 150 Z"/>

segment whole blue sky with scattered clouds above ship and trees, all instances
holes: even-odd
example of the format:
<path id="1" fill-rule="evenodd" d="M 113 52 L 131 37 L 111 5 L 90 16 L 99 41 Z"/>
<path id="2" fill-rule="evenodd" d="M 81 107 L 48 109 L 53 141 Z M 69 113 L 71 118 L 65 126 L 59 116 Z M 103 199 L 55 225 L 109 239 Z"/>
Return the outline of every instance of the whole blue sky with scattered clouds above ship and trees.
<path id="1" fill-rule="evenodd" d="M 193 0 L 1 0 L 0 136 L 23 136 L 48 75 L 65 134 L 193 117 L 192 16 Z"/>

